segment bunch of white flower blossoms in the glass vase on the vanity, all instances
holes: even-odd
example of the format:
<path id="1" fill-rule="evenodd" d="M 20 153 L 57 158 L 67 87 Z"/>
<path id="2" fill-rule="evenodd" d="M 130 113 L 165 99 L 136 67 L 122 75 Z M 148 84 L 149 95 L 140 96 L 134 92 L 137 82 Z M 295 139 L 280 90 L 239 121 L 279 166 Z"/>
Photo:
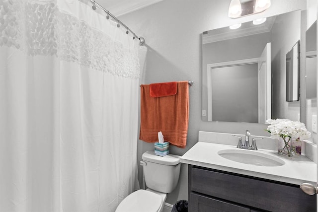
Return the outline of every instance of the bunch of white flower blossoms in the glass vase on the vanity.
<path id="1" fill-rule="evenodd" d="M 285 140 L 286 137 L 289 137 L 290 139 L 304 140 L 311 136 L 311 132 L 306 129 L 305 124 L 299 121 L 277 118 L 267 119 L 266 123 L 270 124 L 267 131 L 272 139 L 281 137 Z"/>

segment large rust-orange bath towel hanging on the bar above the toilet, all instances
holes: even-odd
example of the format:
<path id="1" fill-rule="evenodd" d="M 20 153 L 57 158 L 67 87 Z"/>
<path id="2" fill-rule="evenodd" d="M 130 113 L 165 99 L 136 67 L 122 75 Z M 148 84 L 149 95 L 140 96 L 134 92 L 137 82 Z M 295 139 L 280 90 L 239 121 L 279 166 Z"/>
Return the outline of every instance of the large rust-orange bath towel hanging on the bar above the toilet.
<path id="1" fill-rule="evenodd" d="M 184 148 L 187 141 L 189 119 L 188 81 L 177 82 L 173 96 L 153 98 L 150 85 L 141 85 L 141 123 L 139 139 L 158 142 L 161 131 L 164 140 Z"/>

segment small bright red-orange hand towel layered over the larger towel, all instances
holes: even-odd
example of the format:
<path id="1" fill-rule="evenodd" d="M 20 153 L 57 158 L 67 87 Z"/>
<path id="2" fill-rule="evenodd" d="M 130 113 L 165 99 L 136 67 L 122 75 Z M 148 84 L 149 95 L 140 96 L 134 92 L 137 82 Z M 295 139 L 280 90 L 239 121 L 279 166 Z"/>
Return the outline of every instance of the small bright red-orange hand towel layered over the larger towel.
<path id="1" fill-rule="evenodd" d="M 176 95 L 177 82 L 150 84 L 149 93 L 151 97 L 166 97 Z"/>

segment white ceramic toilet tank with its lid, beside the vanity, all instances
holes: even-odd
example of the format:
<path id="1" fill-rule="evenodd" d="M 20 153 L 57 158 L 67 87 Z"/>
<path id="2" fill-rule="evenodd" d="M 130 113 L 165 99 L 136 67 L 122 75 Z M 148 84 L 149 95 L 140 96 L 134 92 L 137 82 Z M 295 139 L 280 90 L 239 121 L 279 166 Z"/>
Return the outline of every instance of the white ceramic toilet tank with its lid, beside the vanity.
<path id="1" fill-rule="evenodd" d="M 154 151 L 145 152 L 142 159 L 147 187 L 162 193 L 172 192 L 179 181 L 180 157 L 172 154 L 161 157 Z"/>

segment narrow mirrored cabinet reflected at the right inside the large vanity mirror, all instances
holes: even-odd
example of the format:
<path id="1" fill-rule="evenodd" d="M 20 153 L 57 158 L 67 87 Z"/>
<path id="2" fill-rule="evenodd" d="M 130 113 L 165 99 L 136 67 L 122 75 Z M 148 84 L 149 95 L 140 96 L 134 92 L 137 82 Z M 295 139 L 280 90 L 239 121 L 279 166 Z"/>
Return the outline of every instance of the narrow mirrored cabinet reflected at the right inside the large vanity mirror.
<path id="1" fill-rule="evenodd" d="M 299 101 L 299 42 L 286 54 L 286 102 Z"/>

